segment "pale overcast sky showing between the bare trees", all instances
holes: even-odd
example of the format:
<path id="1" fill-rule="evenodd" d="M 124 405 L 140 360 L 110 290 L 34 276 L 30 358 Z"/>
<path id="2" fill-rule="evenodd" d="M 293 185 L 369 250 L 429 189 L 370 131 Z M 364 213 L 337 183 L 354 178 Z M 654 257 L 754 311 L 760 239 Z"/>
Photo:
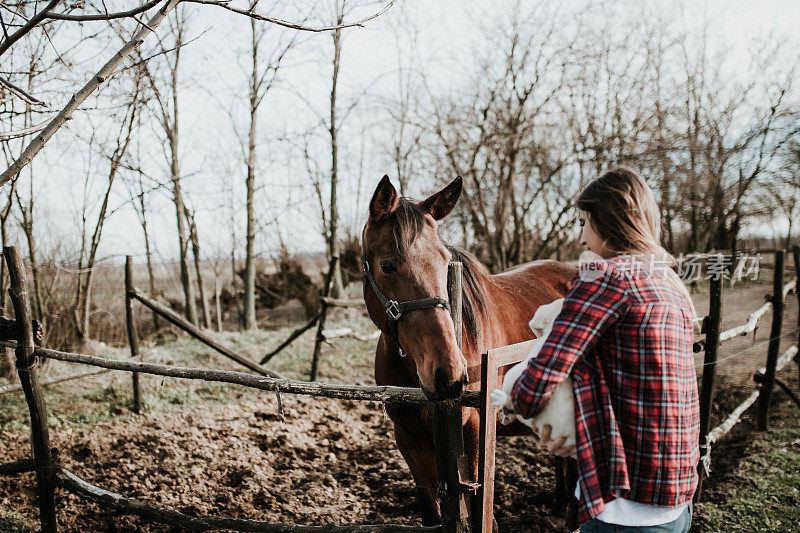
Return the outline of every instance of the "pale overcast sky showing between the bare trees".
<path id="1" fill-rule="evenodd" d="M 393 98 L 396 73 L 400 67 L 423 70 L 431 82 L 446 86 L 465 79 L 482 44 L 480 29 L 501 16 L 509 2 L 492 1 L 423 1 L 398 0 L 380 18 L 364 28 L 346 31 L 343 46 L 340 102 L 342 107 L 358 98 L 343 128 L 341 139 L 341 172 L 343 184 L 341 205 L 345 228 L 363 224 L 366 202 L 384 173 L 392 175 L 390 159 L 385 151 L 383 127 L 385 113 L 378 110 L 382 97 Z M 523 2 L 524 4 L 524 2 Z M 661 17 L 699 29 L 707 21 L 711 42 L 724 50 L 730 65 L 746 63 L 748 47 L 759 39 L 779 39 L 797 57 L 797 28 L 800 27 L 800 2 L 709 0 L 706 2 L 619 1 L 610 9 L 625 14 L 644 9 Z M 641 5 L 644 4 L 644 8 Z M 580 10 L 585 2 L 563 2 L 560 9 Z M 320 7 L 322 6 L 322 7 Z M 317 2 L 315 23 L 330 17 L 323 0 Z M 109 3 L 109 9 L 111 4 Z M 197 210 L 204 254 L 230 254 L 230 213 L 223 207 L 233 199 L 244 205 L 242 184 L 245 167 L 240 145 L 235 138 L 234 124 L 246 132 L 246 73 L 249 46 L 249 20 L 211 6 L 190 6 L 193 15 L 188 37 L 195 39 L 185 48 L 181 94 L 181 143 L 184 186 L 189 204 Z M 288 8 L 285 8 L 288 9 Z M 293 8 L 294 9 L 294 8 Z M 349 18 L 380 9 L 365 4 Z M 276 12 L 281 18 L 295 18 L 297 11 Z M 625 24 L 621 16 L 616 24 Z M 162 30 L 160 28 L 159 30 Z M 615 31 L 609 27 L 608 31 Z M 264 40 L 287 38 L 290 30 L 270 27 Z M 60 36 L 64 41 L 70 35 Z M 152 37 L 151 37 L 152 39 Z M 326 98 L 330 90 L 329 34 L 301 34 L 281 74 L 280 86 L 262 106 L 259 122 L 259 184 L 257 209 L 264 227 L 259 233 L 258 249 L 271 254 L 279 236 L 294 251 L 321 250 L 319 215 L 313 200 L 306 167 L 298 157 L 296 133 L 310 128 L 316 115 L 327 115 Z M 412 50 L 415 54 L 412 55 Z M 86 76 L 99 67 L 112 50 L 86 52 L 96 54 L 94 60 L 81 65 Z M 739 61 L 738 58 L 741 58 Z M 96 70 L 96 67 L 95 67 Z M 83 72 L 83 70 L 81 70 Z M 735 73 L 734 73 L 735 75 Z M 76 85 L 77 87 L 77 85 Z M 60 108 L 64 101 L 48 101 L 51 108 Z M 94 115 L 93 115 L 94 113 Z M 76 114 L 69 128 L 59 131 L 34 164 L 34 189 L 39 195 L 40 245 L 61 244 L 79 247 L 79 213 L 84 202 L 83 184 L 87 172 L 102 177 L 105 168 L 96 155 L 87 153 L 85 140 L 94 128 L 102 130 L 103 115 L 91 110 Z M 143 134 L 140 150 L 149 161 L 153 173 L 164 172 L 163 154 L 159 151 L 157 132 Z M 324 137 L 318 137 L 318 143 Z M 320 148 L 321 150 L 321 148 Z M 328 164 L 319 152 L 322 170 Z M 360 183 L 359 183 L 360 177 Z M 412 184 L 415 195 L 433 192 L 433 176 Z M 87 193 L 97 197 L 102 188 L 98 180 Z M 101 255 L 114 260 L 125 254 L 143 254 L 141 229 L 133 211 L 124 205 L 127 191 L 120 187 L 113 199 L 119 207 L 108 220 Z M 358 207 L 354 207 L 358 202 Z M 90 202 L 91 203 L 91 202 Z M 175 212 L 167 191 L 151 198 L 153 213 L 150 226 L 155 249 L 161 258 L 176 256 Z M 235 213 L 233 226 L 242 238 L 243 207 Z M 269 223 L 272 221 L 272 223 Z M 780 222 L 777 222 L 780 225 Z M 755 228 L 771 234 L 770 225 Z"/>

